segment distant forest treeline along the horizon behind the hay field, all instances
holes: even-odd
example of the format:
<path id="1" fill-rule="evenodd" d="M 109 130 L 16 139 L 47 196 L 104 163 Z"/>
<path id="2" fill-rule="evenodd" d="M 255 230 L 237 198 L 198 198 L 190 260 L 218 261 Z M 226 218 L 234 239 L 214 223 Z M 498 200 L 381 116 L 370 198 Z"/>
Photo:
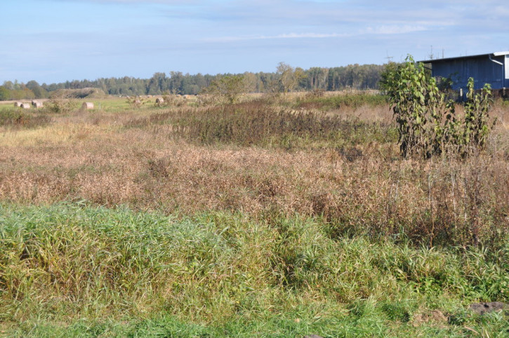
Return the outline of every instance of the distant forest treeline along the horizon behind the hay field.
<path id="1" fill-rule="evenodd" d="M 296 69 L 303 72 L 296 90 L 341 90 L 377 89 L 381 72 L 386 65 L 348 65 L 345 67 Z M 94 81 L 74 80 L 63 83 L 39 84 L 37 81 L 20 83 L 5 81 L 0 86 L 0 100 L 21 100 L 46 98 L 59 89 L 100 88 L 110 95 L 160 95 L 163 93 L 198 94 L 218 76 L 230 74 L 183 74 L 181 72 L 155 73 L 150 79 L 137 79 L 129 76 L 122 78 L 101 78 Z M 245 79 L 255 93 L 263 93 L 270 83 L 277 80 L 277 72 L 245 72 Z"/>

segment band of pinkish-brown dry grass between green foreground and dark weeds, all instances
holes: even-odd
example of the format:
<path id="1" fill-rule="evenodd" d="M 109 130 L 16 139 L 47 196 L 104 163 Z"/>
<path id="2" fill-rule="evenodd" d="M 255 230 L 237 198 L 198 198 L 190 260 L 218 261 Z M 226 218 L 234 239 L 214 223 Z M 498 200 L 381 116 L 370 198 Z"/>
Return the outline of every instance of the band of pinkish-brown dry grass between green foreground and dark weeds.
<path id="1" fill-rule="evenodd" d="M 349 114 L 387 120 L 385 109 Z M 238 210 L 268 222 L 298 213 L 324 217 L 337 236 L 403 233 L 428 243 L 492 243 L 509 227 L 507 111 L 496 107 L 501 122 L 489 149 L 466 161 L 404 160 L 397 144 L 374 140 L 286 151 L 200 146 L 148 120 L 123 127 L 146 110 L 57 116 L 44 128 L 1 134 L 0 199 L 85 199 L 185 214 Z"/>

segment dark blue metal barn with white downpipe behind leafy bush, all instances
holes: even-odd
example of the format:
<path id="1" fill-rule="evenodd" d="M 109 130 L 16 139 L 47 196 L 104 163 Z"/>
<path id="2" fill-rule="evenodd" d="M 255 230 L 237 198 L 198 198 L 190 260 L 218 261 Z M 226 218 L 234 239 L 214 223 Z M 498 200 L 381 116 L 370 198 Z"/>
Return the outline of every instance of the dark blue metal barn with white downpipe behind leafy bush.
<path id="1" fill-rule="evenodd" d="M 454 90 L 465 90 L 470 77 L 475 89 L 484 83 L 493 89 L 509 88 L 509 51 L 420 62 L 431 65 L 432 76 L 451 79 Z"/>

